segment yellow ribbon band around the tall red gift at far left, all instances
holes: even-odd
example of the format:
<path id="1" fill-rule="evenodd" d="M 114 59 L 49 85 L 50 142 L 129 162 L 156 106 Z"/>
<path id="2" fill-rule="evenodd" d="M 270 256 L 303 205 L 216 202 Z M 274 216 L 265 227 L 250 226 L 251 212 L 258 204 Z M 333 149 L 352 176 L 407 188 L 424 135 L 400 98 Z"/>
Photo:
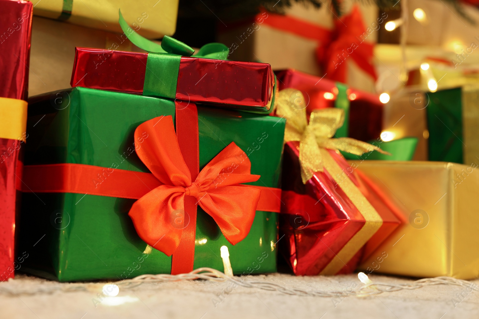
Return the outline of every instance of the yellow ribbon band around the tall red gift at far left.
<path id="1" fill-rule="evenodd" d="M 27 106 L 23 99 L 0 98 L 0 138 L 25 142 Z"/>

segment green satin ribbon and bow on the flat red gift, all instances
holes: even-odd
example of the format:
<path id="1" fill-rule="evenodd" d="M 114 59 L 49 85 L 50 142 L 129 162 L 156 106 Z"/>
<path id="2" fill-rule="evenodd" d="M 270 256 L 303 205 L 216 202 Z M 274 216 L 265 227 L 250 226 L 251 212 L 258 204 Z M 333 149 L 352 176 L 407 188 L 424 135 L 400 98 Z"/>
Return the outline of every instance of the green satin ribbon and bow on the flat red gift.
<path id="1" fill-rule="evenodd" d="M 148 52 L 143 95 L 175 99 L 182 56 L 218 60 L 228 58 L 228 47 L 221 43 L 205 44 L 195 55 L 193 55 L 192 47 L 168 35 L 163 37 L 161 45 L 156 44 L 130 28 L 121 14 L 121 10 L 118 10 L 118 13 L 118 22 L 126 37 L 137 47 Z"/>

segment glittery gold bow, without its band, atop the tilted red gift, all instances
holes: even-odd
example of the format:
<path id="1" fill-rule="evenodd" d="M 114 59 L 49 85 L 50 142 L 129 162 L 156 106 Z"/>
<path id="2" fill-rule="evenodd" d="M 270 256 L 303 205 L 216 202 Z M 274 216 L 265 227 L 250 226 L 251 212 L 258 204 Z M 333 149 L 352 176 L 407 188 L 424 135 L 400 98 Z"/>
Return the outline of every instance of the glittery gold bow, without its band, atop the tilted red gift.
<path id="1" fill-rule="evenodd" d="M 332 138 L 344 123 L 344 111 L 337 108 L 314 110 L 308 119 L 301 91 L 294 88 L 281 90 L 276 99 L 276 114 L 286 119 L 285 142 L 299 142 L 301 178 L 306 184 L 315 172 L 323 171 L 321 149 L 340 150 L 362 155 L 376 150 L 389 154 L 378 146 L 350 137 Z"/>

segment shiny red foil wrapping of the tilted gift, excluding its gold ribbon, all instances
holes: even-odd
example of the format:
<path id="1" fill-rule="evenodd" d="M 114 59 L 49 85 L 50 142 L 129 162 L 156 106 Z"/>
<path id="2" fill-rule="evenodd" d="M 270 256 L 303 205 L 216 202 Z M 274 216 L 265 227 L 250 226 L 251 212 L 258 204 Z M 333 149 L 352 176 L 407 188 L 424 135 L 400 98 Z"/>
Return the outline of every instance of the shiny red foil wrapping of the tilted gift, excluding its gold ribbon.
<path id="1" fill-rule="evenodd" d="M 366 200 L 376 209 L 382 224 L 363 247 L 352 247 L 349 260 L 330 265 L 354 235 L 365 227 L 365 216 L 342 190 L 327 170 L 317 172 L 303 184 L 297 142 L 285 144 L 282 181 L 280 247 L 296 275 L 334 275 L 354 271 L 358 263 L 373 251 L 401 223 L 397 206 L 376 184 L 358 174 L 340 154 L 329 151 Z M 367 227 L 367 226 L 366 226 Z"/>

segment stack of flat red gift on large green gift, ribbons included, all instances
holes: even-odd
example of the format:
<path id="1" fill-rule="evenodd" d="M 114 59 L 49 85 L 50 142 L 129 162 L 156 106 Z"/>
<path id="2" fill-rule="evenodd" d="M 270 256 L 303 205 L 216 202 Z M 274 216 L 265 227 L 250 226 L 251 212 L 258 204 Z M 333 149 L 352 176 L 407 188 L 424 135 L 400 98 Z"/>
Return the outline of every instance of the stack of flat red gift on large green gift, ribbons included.
<path id="1" fill-rule="evenodd" d="M 77 48 L 73 88 L 30 100 L 20 245 L 46 236 L 24 269 L 60 281 L 220 269 L 226 245 L 236 273 L 265 256 L 259 272 L 274 272 L 285 120 L 235 110 L 271 111 L 271 67 L 141 41 L 156 52 Z"/>

